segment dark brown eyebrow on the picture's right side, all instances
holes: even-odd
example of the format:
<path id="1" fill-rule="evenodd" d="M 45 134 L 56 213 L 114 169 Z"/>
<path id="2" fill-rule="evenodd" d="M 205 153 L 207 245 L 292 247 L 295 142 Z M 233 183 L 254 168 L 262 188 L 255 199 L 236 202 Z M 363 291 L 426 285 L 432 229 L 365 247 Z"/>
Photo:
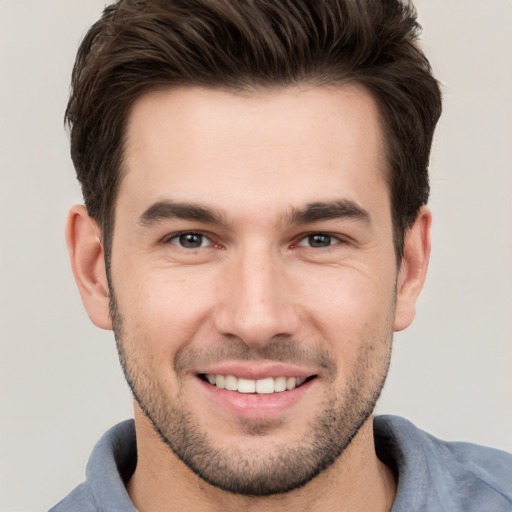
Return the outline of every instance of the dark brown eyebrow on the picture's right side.
<path id="1" fill-rule="evenodd" d="M 308 224 L 343 218 L 370 223 L 370 214 L 348 199 L 309 203 L 303 208 L 294 208 L 289 217 L 291 224 Z"/>

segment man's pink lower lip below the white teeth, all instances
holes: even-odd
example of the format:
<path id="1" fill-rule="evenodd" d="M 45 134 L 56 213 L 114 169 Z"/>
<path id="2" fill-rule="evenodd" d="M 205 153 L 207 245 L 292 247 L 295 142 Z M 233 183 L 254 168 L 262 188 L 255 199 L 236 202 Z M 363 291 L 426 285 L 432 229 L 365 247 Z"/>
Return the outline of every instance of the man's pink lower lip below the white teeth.
<path id="1" fill-rule="evenodd" d="M 268 395 L 228 391 L 217 388 L 199 377 L 197 380 L 211 400 L 235 416 L 246 419 L 269 419 L 296 405 L 314 385 L 316 378 L 295 389 Z"/>

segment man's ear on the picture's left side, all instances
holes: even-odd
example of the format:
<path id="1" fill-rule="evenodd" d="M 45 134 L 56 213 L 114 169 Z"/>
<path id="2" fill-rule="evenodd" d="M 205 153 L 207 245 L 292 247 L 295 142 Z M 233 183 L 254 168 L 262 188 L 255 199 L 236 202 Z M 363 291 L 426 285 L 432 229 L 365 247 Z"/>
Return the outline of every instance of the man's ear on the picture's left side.
<path id="1" fill-rule="evenodd" d="M 66 224 L 66 242 L 73 275 L 91 321 L 112 329 L 103 245 L 98 224 L 85 206 L 71 208 Z"/>

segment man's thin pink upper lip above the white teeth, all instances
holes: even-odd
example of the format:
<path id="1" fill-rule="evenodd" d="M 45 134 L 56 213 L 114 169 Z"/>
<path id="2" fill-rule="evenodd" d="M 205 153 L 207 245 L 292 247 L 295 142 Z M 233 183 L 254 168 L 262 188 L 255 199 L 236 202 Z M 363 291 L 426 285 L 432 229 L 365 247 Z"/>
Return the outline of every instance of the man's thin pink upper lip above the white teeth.
<path id="1" fill-rule="evenodd" d="M 242 379 L 259 380 L 269 377 L 311 377 L 318 372 L 313 369 L 274 362 L 232 361 L 201 368 L 197 374 L 234 375 Z"/>

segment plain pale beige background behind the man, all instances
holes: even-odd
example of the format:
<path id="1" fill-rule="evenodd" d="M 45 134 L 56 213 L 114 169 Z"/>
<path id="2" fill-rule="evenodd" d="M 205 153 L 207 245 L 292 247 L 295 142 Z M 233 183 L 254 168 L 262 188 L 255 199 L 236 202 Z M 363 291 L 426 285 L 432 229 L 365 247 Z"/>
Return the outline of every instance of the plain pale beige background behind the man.
<path id="1" fill-rule="evenodd" d="M 80 192 L 62 117 L 103 0 L 0 0 L 0 511 L 46 510 L 131 415 L 113 336 L 90 324 L 64 244 Z M 512 1 L 421 0 L 444 83 L 433 254 L 396 336 L 381 413 L 512 451 Z"/>

